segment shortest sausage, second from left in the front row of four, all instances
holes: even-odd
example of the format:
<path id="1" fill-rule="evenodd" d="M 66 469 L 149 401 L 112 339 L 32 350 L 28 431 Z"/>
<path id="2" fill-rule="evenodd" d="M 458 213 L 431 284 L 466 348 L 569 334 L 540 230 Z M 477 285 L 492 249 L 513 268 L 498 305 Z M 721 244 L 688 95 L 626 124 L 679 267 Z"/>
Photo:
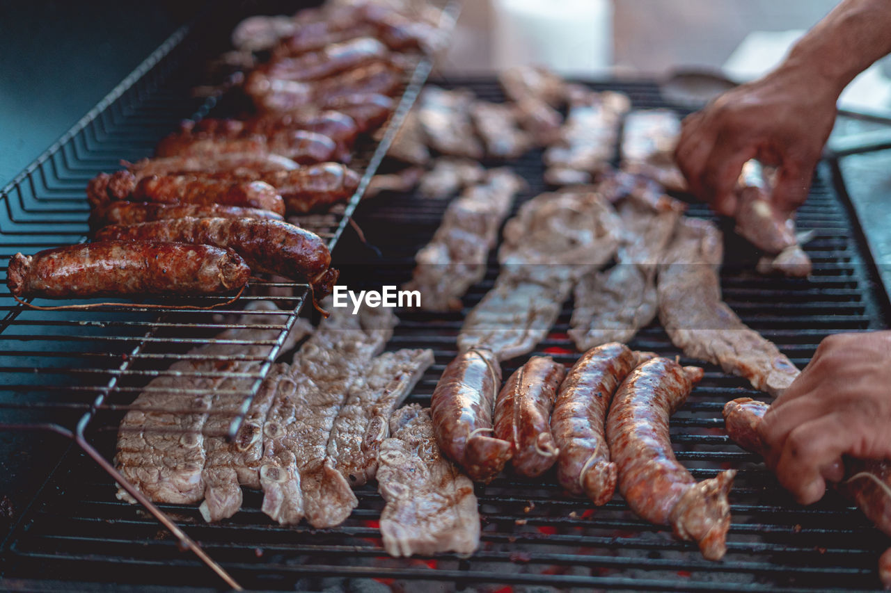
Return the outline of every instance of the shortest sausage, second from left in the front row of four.
<path id="1" fill-rule="evenodd" d="M 511 465 L 519 475 L 542 475 L 557 460 L 550 420 L 565 376 L 566 368 L 550 356 L 533 356 L 495 400 L 495 438 L 511 443 Z"/>

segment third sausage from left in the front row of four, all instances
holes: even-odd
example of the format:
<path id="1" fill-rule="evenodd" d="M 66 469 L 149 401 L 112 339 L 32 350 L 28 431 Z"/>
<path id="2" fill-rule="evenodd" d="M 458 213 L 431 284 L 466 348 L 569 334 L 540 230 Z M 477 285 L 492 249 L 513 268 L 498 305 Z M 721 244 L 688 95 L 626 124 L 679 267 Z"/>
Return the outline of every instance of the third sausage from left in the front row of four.
<path id="1" fill-rule="evenodd" d="M 584 353 L 569 370 L 551 417 L 560 448 L 557 479 L 568 492 L 598 507 L 616 491 L 616 464 L 609 460 L 604 424 L 616 388 L 636 366 L 634 353 L 617 343 Z"/>

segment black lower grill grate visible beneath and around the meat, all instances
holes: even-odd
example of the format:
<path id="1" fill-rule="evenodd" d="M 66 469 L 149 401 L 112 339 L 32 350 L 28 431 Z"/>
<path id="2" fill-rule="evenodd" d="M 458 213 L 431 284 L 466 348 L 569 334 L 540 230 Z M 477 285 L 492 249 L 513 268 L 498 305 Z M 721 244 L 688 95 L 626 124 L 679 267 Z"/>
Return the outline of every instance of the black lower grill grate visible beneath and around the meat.
<path id="1" fill-rule="evenodd" d="M 449 81 L 449 85 L 459 84 L 470 85 L 483 98 L 501 99 L 491 81 Z M 649 83 L 595 86 L 625 90 L 636 107 L 663 104 Z M 513 167 L 530 183 L 519 202 L 544 189 L 540 153 L 528 154 Z M 750 266 L 745 264 L 750 254 L 733 245 L 728 246 L 729 261 L 722 273 L 725 300 L 743 321 L 776 342 L 798 365 L 804 365 L 830 333 L 885 327 L 884 296 L 874 288 L 862 242 L 839 198 L 837 175 L 837 169 L 822 167 L 811 197 L 800 210 L 800 228 L 817 232 L 806 246 L 814 263 L 810 280 L 765 279 L 748 272 Z M 445 207 L 446 201 L 383 194 L 360 208 L 356 221 L 381 255 L 345 237 L 335 251 L 343 281 L 353 288 L 406 280 L 415 251 L 429 240 Z M 707 209 L 693 205 L 691 215 L 707 216 Z M 491 263 L 486 279 L 465 298 L 466 307 L 478 303 L 491 288 L 497 272 L 494 257 Z M 576 359 L 578 354 L 566 337 L 570 312 L 568 304 L 537 353 L 567 363 Z M 462 313 L 405 311 L 399 315 L 402 322 L 388 349 L 431 347 L 436 354 L 436 364 L 410 400 L 427 403 L 439 374 L 454 357 Z M 678 353 L 658 324 L 643 329 L 632 346 L 668 356 Z M 514 361 L 507 362 L 505 373 L 516 366 Z M 527 591 L 535 586 L 876 588 L 876 561 L 889 545 L 887 537 L 835 495 L 813 507 L 798 507 L 764 467 L 756 465 L 755 456 L 723 435 L 723 403 L 744 395 L 759 396 L 744 380 L 708 366 L 706 378 L 672 422 L 678 459 L 692 468 L 693 475 L 701 479 L 727 467 L 740 468 L 731 494 L 728 553 L 720 563 L 703 560 L 693 545 L 636 518 L 618 497 L 597 509 L 586 500 L 568 497 L 551 474 L 540 480 L 508 476 L 477 485 L 484 522 L 482 547 L 470 558 L 389 558 L 377 529 L 383 503 L 372 486 L 357 491 L 359 507 L 345 524 L 330 530 L 271 524 L 260 511 L 260 494 L 255 491 L 247 491 L 241 512 L 221 524 L 204 524 L 197 508 L 160 508 L 177 524 L 186 525 L 226 571 L 251 589 L 359 590 L 372 585 L 363 581 L 366 578 L 403 590 L 440 590 L 435 589 L 435 581 L 486 591 Z M 84 401 L 76 392 L 66 396 L 72 405 Z M 120 401 L 128 400 L 122 394 Z M 100 410 L 88 433 L 108 459 L 114 454 L 122 415 L 117 409 Z M 108 476 L 89 459 L 69 454 L 7 542 L 4 577 L 208 585 L 205 566 L 184 555 L 176 538 L 159 529 L 143 510 L 114 500 L 113 492 Z"/>

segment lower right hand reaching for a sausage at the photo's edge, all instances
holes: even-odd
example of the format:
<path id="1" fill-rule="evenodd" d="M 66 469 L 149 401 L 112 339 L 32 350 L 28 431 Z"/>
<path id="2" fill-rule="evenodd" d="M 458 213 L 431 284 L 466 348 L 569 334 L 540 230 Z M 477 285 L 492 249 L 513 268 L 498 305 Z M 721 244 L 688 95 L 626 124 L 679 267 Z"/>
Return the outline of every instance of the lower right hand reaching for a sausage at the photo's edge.
<path id="1" fill-rule="evenodd" d="M 824 339 L 758 432 L 768 467 L 802 504 L 843 479 L 842 455 L 891 458 L 891 331 Z"/>

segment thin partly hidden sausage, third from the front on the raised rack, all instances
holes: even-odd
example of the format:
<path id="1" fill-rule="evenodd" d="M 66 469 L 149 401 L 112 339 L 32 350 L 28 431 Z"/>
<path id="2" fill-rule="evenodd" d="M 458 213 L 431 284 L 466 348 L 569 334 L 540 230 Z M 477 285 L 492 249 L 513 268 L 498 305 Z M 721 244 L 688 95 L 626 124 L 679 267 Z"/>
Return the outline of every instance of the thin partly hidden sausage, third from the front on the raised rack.
<path id="1" fill-rule="evenodd" d="M 282 215 L 259 208 L 226 206 L 224 204 L 159 204 L 155 202 L 129 202 L 116 199 L 108 205 L 94 209 L 90 215 L 90 227 L 98 229 L 109 224 L 138 224 L 171 218 L 269 218 L 283 220 Z"/>

